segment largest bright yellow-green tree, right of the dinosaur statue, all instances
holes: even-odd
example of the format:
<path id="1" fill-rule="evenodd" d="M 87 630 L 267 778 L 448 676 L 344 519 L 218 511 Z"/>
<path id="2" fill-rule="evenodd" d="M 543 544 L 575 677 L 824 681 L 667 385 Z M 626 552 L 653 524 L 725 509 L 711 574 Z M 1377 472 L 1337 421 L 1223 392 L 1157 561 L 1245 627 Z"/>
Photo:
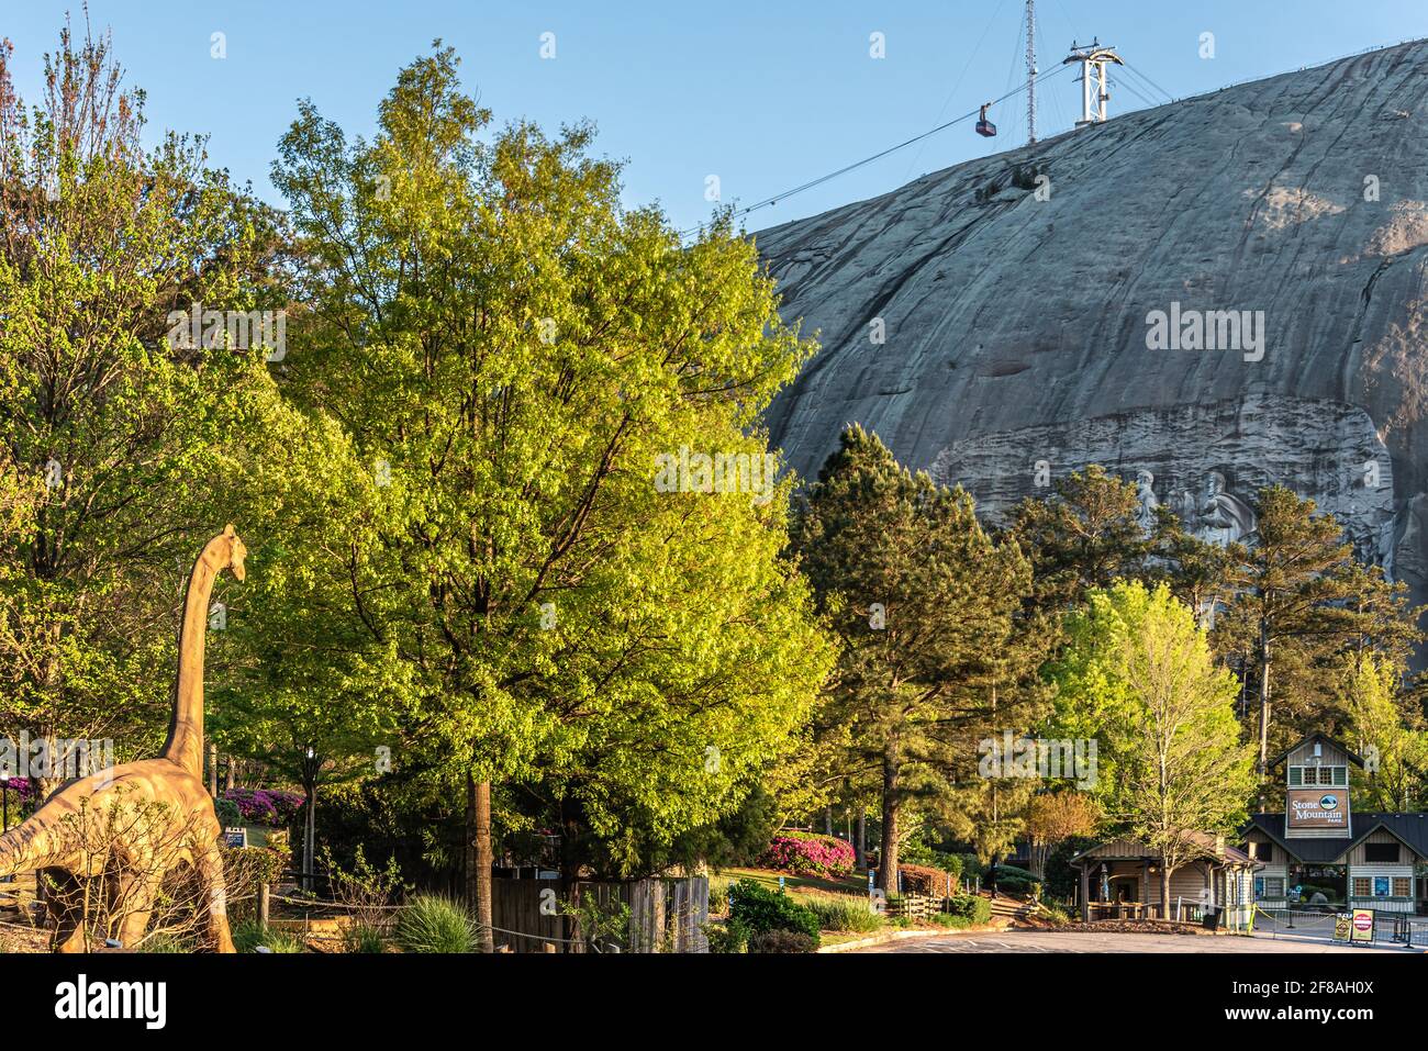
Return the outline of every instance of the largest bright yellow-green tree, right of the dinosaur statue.
<path id="1" fill-rule="evenodd" d="M 623 208 L 588 127 L 488 121 L 437 47 L 371 141 L 304 103 L 274 166 L 313 304 L 287 391 L 386 478 L 328 573 L 403 668 L 407 745 L 464 785 L 481 922 L 493 781 L 637 867 L 645 830 L 740 804 L 830 663 L 757 428 L 813 347 L 753 244 Z M 681 450 L 758 491 L 660 491 Z"/>

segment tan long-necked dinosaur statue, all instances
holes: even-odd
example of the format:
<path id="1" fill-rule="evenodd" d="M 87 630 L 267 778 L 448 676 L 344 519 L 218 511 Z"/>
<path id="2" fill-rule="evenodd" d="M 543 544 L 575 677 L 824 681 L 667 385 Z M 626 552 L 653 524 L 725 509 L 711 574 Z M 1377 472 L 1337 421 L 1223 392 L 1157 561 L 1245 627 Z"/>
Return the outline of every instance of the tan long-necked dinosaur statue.
<path id="1" fill-rule="evenodd" d="M 233 575 L 243 580 L 246 555 L 247 548 L 228 526 L 208 541 L 194 563 L 184 595 L 178 681 L 163 755 L 67 781 L 27 821 L 0 835 L 0 875 L 40 870 L 60 888 L 73 888 L 84 877 L 101 875 L 109 881 L 126 905 L 119 931 L 123 945 L 134 945 L 143 938 L 164 873 L 188 864 L 203 890 L 210 947 L 218 952 L 234 951 L 218 850 L 223 828 L 203 784 L 203 647 L 213 581 L 223 570 L 233 570 Z M 150 807 L 149 813 L 161 815 L 167 828 L 133 823 L 130 835 L 114 837 L 107 858 L 86 858 L 79 850 L 76 821 L 93 821 L 111 804 L 163 804 Z M 96 868 L 101 871 L 93 871 Z M 51 948 L 84 952 L 81 917 L 73 905 L 57 904 L 64 898 L 63 894 L 49 898 L 54 924 Z"/>

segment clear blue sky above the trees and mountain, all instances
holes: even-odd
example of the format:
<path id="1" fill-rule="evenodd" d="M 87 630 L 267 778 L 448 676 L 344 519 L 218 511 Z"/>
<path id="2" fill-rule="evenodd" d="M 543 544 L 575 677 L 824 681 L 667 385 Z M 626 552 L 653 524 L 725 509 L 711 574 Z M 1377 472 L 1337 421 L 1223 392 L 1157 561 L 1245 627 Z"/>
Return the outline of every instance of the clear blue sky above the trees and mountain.
<path id="1" fill-rule="evenodd" d="M 16 47 L 20 89 L 79 3 L 6 0 L 0 34 Z M 1072 36 L 1115 44 L 1174 96 L 1312 66 L 1428 36 L 1424 0 L 1038 0 L 1042 71 Z M 296 100 L 368 134 L 397 69 L 434 37 L 463 57 L 468 89 L 498 121 L 554 127 L 581 117 L 600 151 L 628 161 L 625 200 L 658 200 L 680 227 L 708 216 L 705 177 L 751 204 L 902 141 L 1002 94 L 1021 76 L 1022 0 L 688 0 L 484 3 L 481 0 L 91 0 L 129 81 L 149 93 L 151 126 L 210 136 L 216 166 L 268 183 Z M 210 57 L 210 36 L 227 59 Z M 555 59 L 540 56 L 555 34 Z M 887 57 L 868 54 L 885 34 Z M 1215 57 L 1200 57 L 1201 33 Z M 978 41 L 980 46 L 978 46 Z M 1112 90 L 1111 110 L 1144 103 Z M 1071 73 L 1041 91 L 1038 129 L 1065 130 L 1080 106 Z M 961 124 L 747 220 L 751 230 L 901 186 L 924 171 L 1018 144 L 1021 97 L 994 111 L 1002 137 Z"/>

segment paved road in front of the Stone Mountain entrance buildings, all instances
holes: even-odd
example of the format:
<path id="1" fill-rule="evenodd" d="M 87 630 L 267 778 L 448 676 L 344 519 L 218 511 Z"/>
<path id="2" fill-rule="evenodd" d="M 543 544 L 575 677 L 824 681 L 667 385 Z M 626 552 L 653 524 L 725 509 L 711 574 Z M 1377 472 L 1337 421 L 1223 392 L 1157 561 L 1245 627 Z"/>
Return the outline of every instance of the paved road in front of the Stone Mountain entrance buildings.
<path id="1" fill-rule="evenodd" d="M 854 952 L 1398 952 L 1401 947 L 1337 945 L 1317 938 L 1268 938 L 1191 934 L 1115 934 L 1112 931 L 992 931 L 901 938 Z"/>

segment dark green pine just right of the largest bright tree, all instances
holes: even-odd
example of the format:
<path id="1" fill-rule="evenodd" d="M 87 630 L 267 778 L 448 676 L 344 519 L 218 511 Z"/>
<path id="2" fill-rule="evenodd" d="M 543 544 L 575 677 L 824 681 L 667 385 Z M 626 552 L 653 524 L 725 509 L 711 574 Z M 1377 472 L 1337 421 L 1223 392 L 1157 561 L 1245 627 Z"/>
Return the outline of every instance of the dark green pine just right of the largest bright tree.
<path id="1" fill-rule="evenodd" d="M 880 880 L 895 891 L 904 810 L 945 804 L 975 778 L 978 740 L 1037 714 L 1031 564 L 987 535 L 967 493 L 914 476 L 860 427 L 820 471 L 794 537 L 843 643 L 820 720 L 847 727 L 838 773 L 881 781 Z"/>

